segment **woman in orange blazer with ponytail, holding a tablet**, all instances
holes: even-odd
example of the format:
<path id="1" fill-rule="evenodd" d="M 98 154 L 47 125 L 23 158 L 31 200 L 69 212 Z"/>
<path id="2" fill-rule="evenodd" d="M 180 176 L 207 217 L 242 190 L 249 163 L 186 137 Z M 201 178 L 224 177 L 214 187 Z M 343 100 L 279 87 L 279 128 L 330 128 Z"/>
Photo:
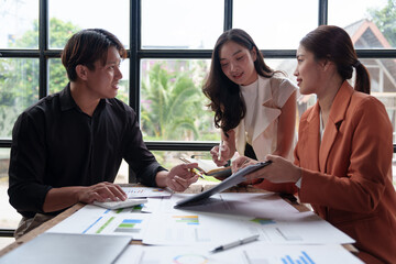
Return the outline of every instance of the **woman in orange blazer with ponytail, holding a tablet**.
<path id="1" fill-rule="evenodd" d="M 300 92 L 316 94 L 318 101 L 301 117 L 295 164 L 267 155 L 273 164 L 249 178 L 296 183 L 300 201 L 353 238 L 361 260 L 396 263 L 393 129 L 384 106 L 366 95 L 369 73 L 337 26 L 308 33 L 297 61 Z M 354 89 L 346 81 L 353 68 Z"/>

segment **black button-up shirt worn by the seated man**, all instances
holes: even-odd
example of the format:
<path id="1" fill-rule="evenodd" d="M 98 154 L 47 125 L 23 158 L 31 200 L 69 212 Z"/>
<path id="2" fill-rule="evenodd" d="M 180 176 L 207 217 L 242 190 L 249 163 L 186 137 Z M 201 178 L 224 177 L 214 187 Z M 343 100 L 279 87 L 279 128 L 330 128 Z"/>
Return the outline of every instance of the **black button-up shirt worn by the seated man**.
<path id="1" fill-rule="evenodd" d="M 146 148 L 132 108 L 118 99 L 102 99 L 89 117 L 74 101 L 68 85 L 26 109 L 15 122 L 10 204 L 22 216 L 33 217 L 43 212 L 53 187 L 112 183 L 122 158 L 147 186 L 155 186 L 156 173 L 164 169 Z"/>

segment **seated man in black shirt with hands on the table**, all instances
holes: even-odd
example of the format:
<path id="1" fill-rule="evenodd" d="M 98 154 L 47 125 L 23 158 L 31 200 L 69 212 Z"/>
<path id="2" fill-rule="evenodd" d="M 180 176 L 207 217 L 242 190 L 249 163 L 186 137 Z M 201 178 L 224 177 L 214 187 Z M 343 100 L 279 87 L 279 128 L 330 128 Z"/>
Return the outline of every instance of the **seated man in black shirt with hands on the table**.
<path id="1" fill-rule="evenodd" d="M 10 204 L 23 216 L 15 235 L 76 202 L 127 199 L 112 184 L 124 158 L 147 186 L 185 190 L 197 164 L 169 172 L 146 148 L 135 112 L 116 99 L 125 50 L 105 30 L 82 30 L 63 54 L 69 84 L 26 109 L 12 132 Z"/>

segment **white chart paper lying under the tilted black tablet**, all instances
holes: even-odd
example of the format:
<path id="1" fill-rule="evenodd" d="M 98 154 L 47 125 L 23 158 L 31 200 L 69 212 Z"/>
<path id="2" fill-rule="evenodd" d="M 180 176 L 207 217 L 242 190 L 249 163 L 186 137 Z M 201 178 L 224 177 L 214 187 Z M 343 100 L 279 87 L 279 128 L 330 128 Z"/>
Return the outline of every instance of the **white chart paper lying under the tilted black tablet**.
<path id="1" fill-rule="evenodd" d="M 183 199 L 183 196 L 173 196 L 170 201 L 175 199 Z M 275 195 L 220 194 L 208 199 L 204 206 L 188 210 L 168 208 L 153 213 L 143 243 L 216 244 L 256 233 L 266 243 L 354 242 L 316 213 L 299 212 Z"/>

